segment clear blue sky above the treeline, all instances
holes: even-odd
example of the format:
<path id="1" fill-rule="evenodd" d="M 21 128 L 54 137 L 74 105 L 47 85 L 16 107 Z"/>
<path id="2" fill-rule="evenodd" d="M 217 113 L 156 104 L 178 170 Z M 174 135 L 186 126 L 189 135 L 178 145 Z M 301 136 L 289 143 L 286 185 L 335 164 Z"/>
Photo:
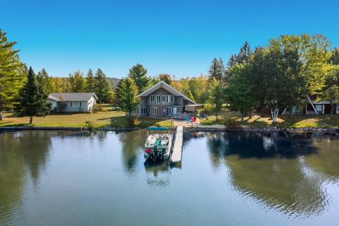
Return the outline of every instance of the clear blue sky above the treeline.
<path id="1" fill-rule="evenodd" d="M 0 0 L 0 28 L 35 71 L 68 76 L 102 69 L 121 78 L 206 74 L 210 61 L 279 34 L 322 33 L 339 46 L 336 1 Z"/>

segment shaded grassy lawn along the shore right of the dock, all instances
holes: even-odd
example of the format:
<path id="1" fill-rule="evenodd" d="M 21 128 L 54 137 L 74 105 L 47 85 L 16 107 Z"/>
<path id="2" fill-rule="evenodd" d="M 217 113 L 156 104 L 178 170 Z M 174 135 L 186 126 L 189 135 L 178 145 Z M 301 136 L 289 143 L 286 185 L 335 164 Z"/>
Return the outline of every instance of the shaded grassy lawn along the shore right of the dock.
<path id="1" fill-rule="evenodd" d="M 292 118 L 288 115 L 278 117 L 278 124 L 273 124 L 270 115 L 261 117 L 257 114 L 253 114 L 251 119 L 249 117 L 244 118 L 244 122 L 241 122 L 241 117 L 238 112 L 229 112 L 225 109 L 222 110 L 218 121 L 216 121 L 215 115 L 208 117 L 208 119 L 201 119 L 203 125 L 213 124 L 225 124 L 228 119 L 234 119 L 239 121 L 244 126 L 253 127 L 266 127 L 266 126 L 277 126 L 277 127 L 338 127 L 339 116 L 335 115 L 333 119 L 330 119 L 329 115 L 295 115 Z"/>

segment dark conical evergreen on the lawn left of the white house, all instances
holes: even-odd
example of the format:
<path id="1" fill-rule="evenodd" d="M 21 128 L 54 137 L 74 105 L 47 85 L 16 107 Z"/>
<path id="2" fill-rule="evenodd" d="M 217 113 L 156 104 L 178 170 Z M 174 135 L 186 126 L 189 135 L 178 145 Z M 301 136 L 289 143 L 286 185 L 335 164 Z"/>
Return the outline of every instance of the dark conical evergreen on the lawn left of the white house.
<path id="1" fill-rule="evenodd" d="M 44 117 L 49 114 L 50 104 L 47 103 L 48 94 L 41 84 L 37 82 L 35 73 L 30 67 L 28 70 L 27 81 L 23 88 L 19 90 L 18 103 L 15 105 L 16 112 L 20 116 L 29 116 L 30 124 L 33 122 L 33 116 Z"/>

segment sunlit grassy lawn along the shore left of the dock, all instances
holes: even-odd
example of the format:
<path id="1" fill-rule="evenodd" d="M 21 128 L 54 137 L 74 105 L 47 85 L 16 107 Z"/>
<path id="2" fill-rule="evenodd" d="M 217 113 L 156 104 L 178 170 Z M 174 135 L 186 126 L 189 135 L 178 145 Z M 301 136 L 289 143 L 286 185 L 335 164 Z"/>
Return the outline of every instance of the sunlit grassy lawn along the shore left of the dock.
<path id="1" fill-rule="evenodd" d="M 51 126 L 51 127 L 78 127 L 85 126 L 85 120 L 88 119 L 95 127 L 101 127 L 111 124 L 116 126 L 127 126 L 127 117 L 125 112 L 112 111 L 112 105 L 102 105 L 102 112 L 97 113 L 64 113 L 51 114 L 47 117 L 33 117 L 33 124 L 29 125 L 29 117 L 17 117 L 16 114 L 5 112 L 4 120 L 0 121 L 0 126 Z M 114 121 L 115 120 L 115 121 Z M 169 119 L 152 119 L 147 117 L 140 118 L 141 128 L 147 126 L 170 126 Z"/>

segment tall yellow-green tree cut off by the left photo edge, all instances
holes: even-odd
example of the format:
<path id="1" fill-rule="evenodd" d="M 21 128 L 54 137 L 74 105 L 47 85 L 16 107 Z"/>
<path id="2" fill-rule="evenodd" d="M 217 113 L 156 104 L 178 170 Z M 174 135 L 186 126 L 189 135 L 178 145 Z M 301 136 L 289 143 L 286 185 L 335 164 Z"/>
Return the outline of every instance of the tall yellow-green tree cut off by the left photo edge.
<path id="1" fill-rule="evenodd" d="M 1 112 L 10 108 L 18 97 L 18 90 L 25 79 L 24 64 L 14 50 L 16 42 L 8 42 L 6 32 L 0 29 L 0 120 Z"/>

